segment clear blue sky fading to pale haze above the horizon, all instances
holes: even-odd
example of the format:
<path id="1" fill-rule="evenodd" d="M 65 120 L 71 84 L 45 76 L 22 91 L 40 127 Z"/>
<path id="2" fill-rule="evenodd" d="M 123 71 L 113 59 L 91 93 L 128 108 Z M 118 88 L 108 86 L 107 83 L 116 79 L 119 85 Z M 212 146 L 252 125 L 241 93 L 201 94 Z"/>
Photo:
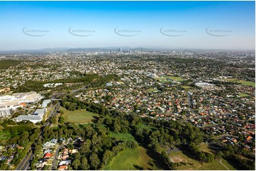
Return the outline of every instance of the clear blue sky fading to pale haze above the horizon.
<path id="1" fill-rule="evenodd" d="M 255 1 L 0 1 L 0 50 L 255 49 Z"/>

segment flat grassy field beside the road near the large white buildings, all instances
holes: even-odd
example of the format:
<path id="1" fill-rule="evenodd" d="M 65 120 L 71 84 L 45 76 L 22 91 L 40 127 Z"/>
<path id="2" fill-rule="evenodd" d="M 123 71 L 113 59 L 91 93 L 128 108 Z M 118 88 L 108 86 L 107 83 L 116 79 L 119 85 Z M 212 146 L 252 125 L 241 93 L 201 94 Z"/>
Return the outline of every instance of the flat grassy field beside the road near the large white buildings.
<path id="1" fill-rule="evenodd" d="M 94 114 L 87 110 L 68 111 L 64 107 L 61 107 L 60 110 L 64 112 L 65 122 L 71 122 L 74 124 L 89 123 L 94 119 L 94 117 L 99 117 L 99 114 Z"/>

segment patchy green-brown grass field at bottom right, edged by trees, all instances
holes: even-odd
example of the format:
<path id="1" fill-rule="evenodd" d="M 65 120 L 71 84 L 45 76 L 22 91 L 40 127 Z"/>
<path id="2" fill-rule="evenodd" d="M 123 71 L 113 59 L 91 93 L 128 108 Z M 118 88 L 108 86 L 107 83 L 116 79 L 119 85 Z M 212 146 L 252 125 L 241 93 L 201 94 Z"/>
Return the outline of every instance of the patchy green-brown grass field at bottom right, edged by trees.
<path id="1" fill-rule="evenodd" d="M 212 163 L 202 163 L 201 161 L 189 158 L 187 155 L 184 155 L 182 151 L 169 153 L 169 158 L 174 163 L 182 163 L 181 166 L 177 167 L 177 170 L 235 170 L 235 168 L 224 159 L 221 159 L 223 165 L 218 160 L 214 160 Z"/>

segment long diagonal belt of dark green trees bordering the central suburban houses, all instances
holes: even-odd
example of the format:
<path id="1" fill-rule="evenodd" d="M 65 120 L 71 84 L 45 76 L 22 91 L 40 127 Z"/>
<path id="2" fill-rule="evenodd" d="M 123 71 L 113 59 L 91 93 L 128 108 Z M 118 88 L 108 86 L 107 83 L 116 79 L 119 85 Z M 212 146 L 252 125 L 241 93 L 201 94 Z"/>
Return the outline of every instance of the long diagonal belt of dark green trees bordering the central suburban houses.
<path id="1" fill-rule="evenodd" d="M 135 114 L 128 115 L 109 111 L 99 103 L 80 101 L 70 95 L 62 98 L 61 105 L 67 110 L 85 109 L 90 112 L 101 114 L 103 118 L 100 118 L 96 122 L 97 125 L 104 124 L 108 131 L 116 133 L 128 132 L 133 134 L 138 143 L 144 144 L 152 151 L 155 151 L 155 153 L 160 153 L 169 169 L 173 169 L 175 165 L 166 158 L 166 151 L 169 151 L 174 147 L 184 146 L 187 148 L 187 151 L 190 151 L 190 153 L 193 154 L 194 158 L 203 160 L 204 162 L 211 162 L 214 160 L 213 155 L 204 153 L 198 148 L 203 142 L 203 134 L 197 127 L 191 124 L 181 124 L 174 121 L 158 121 L 150 118 L 141 119 Z M 138 126 L 141 124 L 145 124 L 146 126 Z M 155 129 L 149 129 L 148 125 L 150 124 L 155 126 Z"/>

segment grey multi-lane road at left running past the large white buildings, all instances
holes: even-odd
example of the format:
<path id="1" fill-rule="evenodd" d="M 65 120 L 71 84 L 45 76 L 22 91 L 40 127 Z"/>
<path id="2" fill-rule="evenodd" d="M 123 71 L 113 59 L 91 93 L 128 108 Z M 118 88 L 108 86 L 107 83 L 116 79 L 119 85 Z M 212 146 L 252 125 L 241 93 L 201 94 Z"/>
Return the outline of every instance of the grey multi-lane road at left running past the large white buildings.
<path id="1" fill-rule="evenodd" d="M 49 117 L 48 117 L 48 119 L 46 120 L 46 122 L 45 122 L 45 125 L 43 125 L 41 128 L 44 130 L 45 129 L 45 126 L 50 126 L 51 125 L 51 123 L 50 123 L 50 118 L 52 117 L 52 116 L 57 116 L 57 111 L 58 110 L 60 110 L 60 102 L 58 102 L 56 105 L 55 105 L 55 110 L 53 110 L 51 113 L 50 113 L 50 115 L 49 115 Z M 40 134 L 38 135 L 38 138 L 37 138 L 37 140 L 36 141 L 38 141 L 38 139 L 40 139 L 40 138 L 43 138 L 43 133 L 44 133 L 44 131 L 43 130 L 41 130 L 40 131 Z M 35 141 L 35 142 L 36 142 Z M 33 159 L 33 151 L 35 150 L 35 148 L 33 148 L 33 145 L 30 147 L 30 150 L 29 151 L 31 151 L 31 153 L 28 153 L 28 155 L 26 155 L 26 157 L 25 158 L 23 158 L 23 160 L 21 161 L 21 163 L 16 167 L 16 170 L 28 170 L 29 169 L 29 165 L 30 165 L 30 161 Z"/>

